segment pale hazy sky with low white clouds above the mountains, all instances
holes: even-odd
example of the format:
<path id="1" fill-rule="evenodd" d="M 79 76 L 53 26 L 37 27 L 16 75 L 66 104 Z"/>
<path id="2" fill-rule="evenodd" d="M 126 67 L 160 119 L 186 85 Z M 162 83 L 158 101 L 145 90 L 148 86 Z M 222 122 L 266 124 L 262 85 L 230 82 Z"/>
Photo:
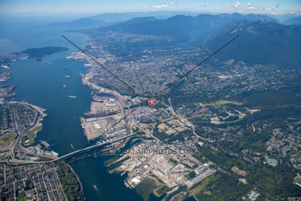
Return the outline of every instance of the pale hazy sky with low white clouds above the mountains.
<path id="1" fill-rule="evenodd" d="M 199 11 L 301 14 L 301 0 L 0 0 L 0 13 L 72 12 L 111 13 L 133 11 Z M 300 15 L 301 16 L 301 15 Z"/>

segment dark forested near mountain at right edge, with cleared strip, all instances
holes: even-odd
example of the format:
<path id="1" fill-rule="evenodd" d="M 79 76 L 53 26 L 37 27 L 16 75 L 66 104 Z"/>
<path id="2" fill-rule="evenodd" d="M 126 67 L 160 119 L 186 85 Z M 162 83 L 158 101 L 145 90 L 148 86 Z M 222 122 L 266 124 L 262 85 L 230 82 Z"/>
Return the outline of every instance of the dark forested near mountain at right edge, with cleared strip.
<path id="1" fill-rule="evenodd" d="M 219 58 L 235 58 L 250 65 L 274 63 L 282 67 L 301 66 L 301 27 L 259 20 L 241 21 L 223 28 L 223 32 L 207 44 L 218 49 L 239 35 L 231 45 L 219 52 Z"/>

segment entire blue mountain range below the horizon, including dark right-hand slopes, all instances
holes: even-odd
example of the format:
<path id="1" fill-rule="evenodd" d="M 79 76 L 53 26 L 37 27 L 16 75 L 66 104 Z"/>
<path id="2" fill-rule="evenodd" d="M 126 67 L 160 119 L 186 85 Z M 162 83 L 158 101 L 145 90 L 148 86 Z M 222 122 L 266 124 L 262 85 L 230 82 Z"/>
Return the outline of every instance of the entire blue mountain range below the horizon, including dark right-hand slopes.
<path id="1" fill-rule="evenodd" d="M 199 43 L 199 46 L 206 40 L 206 47 L 212 52 L 239 35 L 216 57 L 221 60 L 233 58 L 250 65 L 301 66 L 301 27 L 279 24 L 278 20 L 264 15 L 177 15 L 165 20 L 142 17 L 82 32 L 92 37 L 111 32 L 169 36 L 178 43 L 193 37 L 196 38 L 193 43 Z"/>

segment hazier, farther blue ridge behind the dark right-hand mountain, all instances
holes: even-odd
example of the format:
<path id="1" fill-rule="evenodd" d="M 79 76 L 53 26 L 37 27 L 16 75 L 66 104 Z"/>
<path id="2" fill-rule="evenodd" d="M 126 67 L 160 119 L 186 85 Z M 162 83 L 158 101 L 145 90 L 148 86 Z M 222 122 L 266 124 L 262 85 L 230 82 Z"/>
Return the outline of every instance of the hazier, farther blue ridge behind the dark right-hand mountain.
<path id="1" fill-rule="evenodd" d="M 266 21 L 275 21 L 276 19 L 264 15 L 241 15 L 238 13 L 209 15 L 201 14 L 196 17 L 177 15 L 166 20 L 159 20 L 154 17 L 133 18 L 123 23 L 112 26 L 95 28 L 87 31 L 89 34 L 112 32 L 125 32 L 133 34 L 145 34 L 156 36 L 170 36 L 178 41 L 187 41 L 191 36 L 203 40 L 209 33 L 220 29 L 223 26 L 246 21 L 257 21 L 264 19 Z"/>

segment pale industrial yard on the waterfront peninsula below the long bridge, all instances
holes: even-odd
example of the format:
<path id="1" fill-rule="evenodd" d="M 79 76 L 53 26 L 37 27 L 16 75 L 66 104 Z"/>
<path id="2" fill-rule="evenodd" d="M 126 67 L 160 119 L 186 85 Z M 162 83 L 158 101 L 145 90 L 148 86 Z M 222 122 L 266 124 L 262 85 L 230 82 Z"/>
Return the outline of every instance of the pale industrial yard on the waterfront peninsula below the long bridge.
<path id="1" fill-rule="evenodd" d="M 124 182 L 131 188 L 151 175 L 162 180 L 169 188 L 184 183 L 192 186 L 215 172 L 209 168 L 209 163 L 202 164 L 194 158 L 193 153 L 194 150 L 178 149 L 157 140 L 146 140 L 126 150 L 123 158 L 130 158 L 116 170 L 128 172 Z M 189 172 L 195 172 L 196 176 L 186 178 Z"/>

